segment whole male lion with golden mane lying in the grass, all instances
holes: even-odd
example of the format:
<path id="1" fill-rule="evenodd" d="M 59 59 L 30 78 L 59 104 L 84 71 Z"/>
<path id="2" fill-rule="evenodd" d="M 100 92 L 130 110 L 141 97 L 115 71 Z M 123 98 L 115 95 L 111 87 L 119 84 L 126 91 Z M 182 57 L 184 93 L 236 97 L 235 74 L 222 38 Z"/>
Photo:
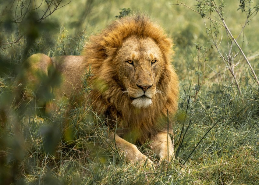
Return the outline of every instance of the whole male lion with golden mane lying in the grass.
<path id="1" fill-rule="evenodd" d="M 118 124 L 116 133 L 109 136 L 126 160 L 152 164 L 132 144 L 149 139 L 160 162 L 170 162 L 174 149 L 167 134 L 167 110 L 174 115 L 178 105 L 178 77 L 170 65 L 171 43 L 147 16 L 127 16 L 90 37 L 83 56 L 32 55 L 27 60 L 27 83 L 40 83 L 38 72 L 47 74 L 54 66 L 62 74 L 55 98 L 69 96 L 80 91 L 81 76 L 91 66 L 93 76 L 88 82 L 92 85 L 89 96 L 93 109 Z M 53 102 L 46 109 L 55 109 Z"/>

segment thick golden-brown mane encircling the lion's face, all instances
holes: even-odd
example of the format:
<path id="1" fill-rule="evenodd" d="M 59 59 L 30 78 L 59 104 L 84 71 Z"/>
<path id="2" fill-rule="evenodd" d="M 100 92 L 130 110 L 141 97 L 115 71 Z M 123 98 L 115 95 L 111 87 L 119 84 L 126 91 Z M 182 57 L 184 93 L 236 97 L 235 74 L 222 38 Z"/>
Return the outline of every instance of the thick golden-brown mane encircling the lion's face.
<path id="1" fill-rule="evenodd" d="M 118 78 L 118 64 L 113 60 L 122 42 L 133 35 L 152 38 L 165 60 L 156 85 L 161 92 L 156 93 L 152 104 L 144 109 L 136 109 L 130 97 L 123 93 L 125 87 Z M 89 80 L 93 88 L 90 94 L 93 109 L 115 120 L 123 129 L 124 136 L 134 133 L 134 141 L 143 142 L 166 129 L 167 121 L 163 118 L 167 117 L 167 110 L 169 115 L 174 115 L 178 107 L 178 77 L 170 65 L 172 53 L 171 39 L 145 15 L 117 19 L 99 34 L 90 37 L 84 48 L 84 60 L 91 66 L 93 74 Z"/>

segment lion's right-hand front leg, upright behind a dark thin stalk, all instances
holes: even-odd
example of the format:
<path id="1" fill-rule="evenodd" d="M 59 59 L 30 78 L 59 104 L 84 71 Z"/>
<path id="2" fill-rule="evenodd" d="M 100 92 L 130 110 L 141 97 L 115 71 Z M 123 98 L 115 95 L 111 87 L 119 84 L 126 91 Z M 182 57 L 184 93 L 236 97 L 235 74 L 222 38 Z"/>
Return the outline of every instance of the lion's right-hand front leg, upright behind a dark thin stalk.
<path id="1" fill-rule="evenodd" d="M 167 140 L 166 132 L 156 134 L 153 138 L 151 138 L 151 141 L 151 148 L 160 158 L 159 163 L 163 160 L 167 160 L 169 162 L 175 160 L 174 146 L 170 137 L 168 137 Z"/>

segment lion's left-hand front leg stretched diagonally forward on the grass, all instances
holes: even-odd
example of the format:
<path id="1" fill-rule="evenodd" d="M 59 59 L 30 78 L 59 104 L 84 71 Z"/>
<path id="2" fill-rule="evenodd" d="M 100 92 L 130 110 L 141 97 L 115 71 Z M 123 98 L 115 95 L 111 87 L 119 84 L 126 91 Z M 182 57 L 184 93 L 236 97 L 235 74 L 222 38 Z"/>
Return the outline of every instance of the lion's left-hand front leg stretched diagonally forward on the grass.
<path id="1" fill-rule="evenodd" d="M 109 137 L 110 141 L 114 142 L 114 133 L 110 134 Z M 153 164 L 149 158 L 137 149 L 136 145 L 122 139 L 117 134 L 115 134 L 115 143 L 118 151 L 124 153 L 127 162 L 133 162 L 133 164 L 139 164 L 141 166 L 143 166 L 146 162 L 148 166 Z"/>

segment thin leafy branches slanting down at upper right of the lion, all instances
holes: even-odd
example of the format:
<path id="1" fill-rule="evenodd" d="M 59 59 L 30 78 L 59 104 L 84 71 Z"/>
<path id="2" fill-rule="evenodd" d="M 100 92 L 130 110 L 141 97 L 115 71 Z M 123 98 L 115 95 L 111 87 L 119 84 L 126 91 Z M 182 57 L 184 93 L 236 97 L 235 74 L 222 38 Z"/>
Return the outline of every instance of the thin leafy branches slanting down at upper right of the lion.
<path id="1" fill-rule="evenodd" d="M 237 10 L 241 10 L 242 12 L 245 12 L 246 14 L 246 21 L 242 26 L 242 29 L 239 33 L 239 35 L 235 38 L 231 31 L 229 30 L 225 18 L 224 18 L 224 12 L 223 9 L 225 7 L 225 3 L 223 0 L 221 0 L 218 4 L 214 0 L 196 0 L 197 1 L 197 10 L 192 9 L 188 5 L 186 5 L 184 2 L 180 2 L 176 0 L 177 4 L 175 5 L 183 5 L 192 11 L 198 13 L 201 15 L 201 17 L 207 18 L 210 21 L 209 27 L 207 27 L 205 20 L 205 26 L 206 26 L 206 32 L 208 36 L 211 38 L 213 44 L 215 45 L 218 53 L 220 54 L 220 57 L 222 58 L 223 62 L 227 66 L 228 70 L 230 71 L 231 75 L 233 76 L 233 79 L 235 81 L 235 85 L 239 91 L 239 94 L 241 94 L 241 90 L 239 87 L 238 79 L 236 78 L 236 73 L 234 71 L 234 68 L 239 64 L 240 59 L 238 62 L 235 62 L 236 57 L 241 53 L 247 62 L 248 66 L 250 67 L 250 70 L 253 74 L 254 80 L 257 82 L 259 86 L 259 80 L 254 72 L 253 67 L 251 66 L 249 60 L 247 59 L 247 56 L 244 54 L 242 50 L 242 46 L 240 46 L 237 42 L 237 39 L 240 37 L 240 35 L 243 33 L 244 28 L 246 27 L 247 24 L 250 23 L 250 21 L 253 19 L 254 16 L 257 15 L 258 10 L 259 10 L 259 4 L 256 4 L 255 6 L 252 6 L 252 1 L 251 0 L 240 0 L 239 8 Z M 216 15 L 213 14 L 213 12 L 216 12 Z M 214 17 L 212 19 L 212 17 Z M 228 52 L 223 52 L 220 50 L 219 45 L 222 42 L 222 37 L 223 37 L 223 32 L 220 29 L 222 29 L 220 26 L 224 27 L 226 31 L 226 36 L 228 38 L 227 43 L 228 43 Z M 221 34 L 221 36 L 220 36 Z M 234 54 L 233 46 L 236 45 L 239 51 Z M 225 55 L 223 54 L 225 53 Z M 232 82 L 232 81 L 231 81 Z"/>

